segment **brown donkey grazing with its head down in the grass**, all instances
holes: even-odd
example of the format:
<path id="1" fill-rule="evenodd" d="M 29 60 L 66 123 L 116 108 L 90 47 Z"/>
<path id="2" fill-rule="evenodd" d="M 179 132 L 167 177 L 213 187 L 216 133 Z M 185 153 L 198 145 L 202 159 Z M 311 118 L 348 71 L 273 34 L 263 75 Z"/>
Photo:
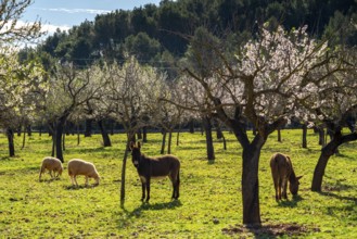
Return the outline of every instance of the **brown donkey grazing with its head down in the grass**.
<path id="1" fill-rule="evenodd" d="M 293 164 L 288 155 L 281 153 L 275 153 L 270 159 L 271 175 L 273 179 L 273 186 L 276 188 L 276 200 L 281 200 L 281 197 L 288 199 L 286 186 L 288 180 L 290 183 L 289 189 L 293 196 L 298 191 L 298 179 L 303 176 L 296 177 L 293 169 Z M 281 192 L 282 189 L 282 192 Z"/>

